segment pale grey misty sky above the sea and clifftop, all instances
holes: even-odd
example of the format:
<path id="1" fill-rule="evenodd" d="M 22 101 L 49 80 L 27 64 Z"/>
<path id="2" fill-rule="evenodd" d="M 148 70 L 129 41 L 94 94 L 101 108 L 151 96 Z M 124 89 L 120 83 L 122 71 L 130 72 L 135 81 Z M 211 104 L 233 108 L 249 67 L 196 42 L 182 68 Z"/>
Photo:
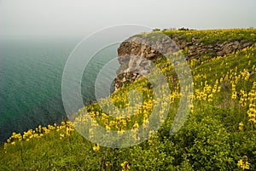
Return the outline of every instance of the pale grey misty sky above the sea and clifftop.
<path id="1" fill-rule="evenodd" d="M 0 0 L 0 36 L 85 36 L 120 24 L 247 28 L 255 9 L 255 0 Z"/>

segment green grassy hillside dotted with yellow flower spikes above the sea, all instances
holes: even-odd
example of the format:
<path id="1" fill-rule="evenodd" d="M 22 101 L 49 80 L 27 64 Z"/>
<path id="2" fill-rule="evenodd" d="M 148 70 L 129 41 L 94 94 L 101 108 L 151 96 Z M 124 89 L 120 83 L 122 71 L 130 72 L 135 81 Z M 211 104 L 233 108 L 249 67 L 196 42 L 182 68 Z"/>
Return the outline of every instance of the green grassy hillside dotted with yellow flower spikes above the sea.
<path id="1" fill-rule="evenodd" d="M 118 134 L 132 129 L 132 138 L 137 140 L 139 125 L 147 128 L 154 102 L 160 100 L 154 99 L 154 88 L 142 77 L 111 95 L 113 104 L 124 108 L 129 105 L 126 94 L 137 89 L 143 94 L 143 105 L 135 115 L 110 117 L 96 103 L 80 109 L 74 123 L 63 121 L 61 125 L 39 125 L 24 133 L 13 133 L 1 146 L 0 170 L 256 170 L 256 31 L 164 33 L 170 37 L 179 34 L 185 39 L 201 37 L 203 43 L 236 39 L 254 44 L 224 56 L 213 58 L 205 54 L 189 61 L 194 81 L 193 105 L 177 134 L 170 135 L 170 128 L 181 98 L 179 81 L 173 64 L 161 58 L 155 64 L 171 92 L 160 98 L 170 101 L 170 110 L 167 119 L 162 120 L 165 106 L 159 109 L 158 119 L 163 124 L 157 132 L 149 132 L 148 140 L 126 148 L 107 148 L 91 143 L 75 129 L 88 122 L 88 116 L 83 115 L 86 110 L 93 123 Z M 186 53 L 186 49 L 182 52 Z"/>

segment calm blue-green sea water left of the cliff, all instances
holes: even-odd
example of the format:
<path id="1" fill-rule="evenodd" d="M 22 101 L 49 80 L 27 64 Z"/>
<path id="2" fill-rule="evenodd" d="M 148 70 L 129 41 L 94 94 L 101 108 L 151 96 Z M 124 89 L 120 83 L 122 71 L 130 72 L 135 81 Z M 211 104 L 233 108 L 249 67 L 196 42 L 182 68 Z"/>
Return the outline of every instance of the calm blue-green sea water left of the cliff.
<path id="1" fill-rule="evenodd" d="M 67 58 L 79 41 L 79 38 L 0 40 L 0 141 L 14 131 L 60 123 L 67 118 L 61 100 L 61 77 Z M 115 56 L 116 50 L 99 53 L 85 68 L 84 104 L 95 100 L 96 74 Z"/>

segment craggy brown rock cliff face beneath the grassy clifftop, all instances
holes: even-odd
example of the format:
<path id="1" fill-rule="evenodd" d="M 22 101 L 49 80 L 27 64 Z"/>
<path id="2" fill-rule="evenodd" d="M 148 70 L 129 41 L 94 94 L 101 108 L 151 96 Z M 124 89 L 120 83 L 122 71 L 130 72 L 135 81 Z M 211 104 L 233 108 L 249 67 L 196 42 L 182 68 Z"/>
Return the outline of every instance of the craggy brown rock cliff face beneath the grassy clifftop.
<path id="1" fill-rule="evenodd" d="M 152 63 L 148 60 L 158 60 L 162 54 L 168 52 L 172 53 L 183 49 L 187 60 L 191 60 L 195 58 L 201 59 L 204 55 L 212 57 L 223 56 L 224 54 L 232 53 L 234 50 L 253 45 L 253 42 L 247 40 L 201 43 L 201 38 L 199 37 L 192 37 L 190 41 L 178 35 L 172 35 L 170 38 L 161 37 L 160 40 L 154 42 L 154 46 L 148 45 L 150 41 L 139 35 L 121 43 L 118 48 L 119 64 L 121 66 L 117 71 L 118 77 L 115 79 L 115 88 L 120 88 L 127 82 L 133 83 L 137 78 L 143 77 L 152 67 Z"/>

